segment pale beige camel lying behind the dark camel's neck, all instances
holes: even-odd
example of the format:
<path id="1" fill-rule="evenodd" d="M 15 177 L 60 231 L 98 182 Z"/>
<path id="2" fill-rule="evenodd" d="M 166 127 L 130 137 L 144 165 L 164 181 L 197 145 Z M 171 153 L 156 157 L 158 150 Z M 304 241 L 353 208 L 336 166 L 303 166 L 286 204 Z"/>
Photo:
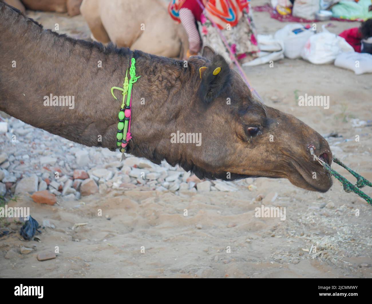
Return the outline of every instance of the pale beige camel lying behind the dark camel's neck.
<path id="1" fill-rule="evenodd" d="M 186 58 L 186 31 L 170 18 L 164 1 L 83 0 L 80 12 L 99 42 L 113 42 L 158 56 Z"/>

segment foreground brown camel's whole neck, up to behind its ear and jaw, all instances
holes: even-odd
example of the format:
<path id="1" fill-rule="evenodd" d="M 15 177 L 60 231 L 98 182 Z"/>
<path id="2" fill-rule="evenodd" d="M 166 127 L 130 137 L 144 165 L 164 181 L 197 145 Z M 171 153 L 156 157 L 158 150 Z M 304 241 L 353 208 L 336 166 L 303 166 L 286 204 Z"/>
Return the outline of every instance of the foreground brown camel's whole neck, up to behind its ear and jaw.
<path id="1" fill-rule="evenodd" d="M 122 95 L 115 100 L 110 89 L 122 86 L 134 56 L 141 78 L 132 91 L 129 153 L 166 157 L 170 149 L 156 147 L 168 145 L 182 101 L 192 98 L 191 63 L 58 35 L 2 2 L 0 35 L 0 110 L 86 146 L 116 148 Z"/>

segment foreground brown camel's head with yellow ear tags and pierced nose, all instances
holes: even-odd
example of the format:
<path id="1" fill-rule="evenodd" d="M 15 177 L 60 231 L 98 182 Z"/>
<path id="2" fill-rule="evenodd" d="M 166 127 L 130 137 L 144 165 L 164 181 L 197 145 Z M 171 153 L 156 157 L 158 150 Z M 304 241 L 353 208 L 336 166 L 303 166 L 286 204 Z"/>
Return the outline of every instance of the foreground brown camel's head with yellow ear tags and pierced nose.
<path id="1" fill-rule="evenodd" d="M 262 104 L 222 56 L 210 49 L 189 62 L 206 68 L 200 72 L 196 101 L 183 118 L 187 124 L 176 128 L 201 133 L 201 142 L 182 146 L 180 154 L 186 157 L 180 166 L 201 178 L 286 178 L 303 189 L 330 189 L 329 174 L 310 154 L 314 148 L 331 164 L 330 147 L 319 133 L 293 115 Z M 218 67 L 221 71 L 216 74 Z"/>

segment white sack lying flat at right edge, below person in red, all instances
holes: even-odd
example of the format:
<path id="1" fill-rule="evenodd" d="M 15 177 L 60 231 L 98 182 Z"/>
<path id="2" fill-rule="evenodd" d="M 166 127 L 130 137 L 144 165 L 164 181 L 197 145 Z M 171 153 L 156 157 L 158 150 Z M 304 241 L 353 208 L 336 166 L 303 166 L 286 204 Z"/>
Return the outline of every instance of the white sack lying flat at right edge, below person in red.
<path id="1" fill-rule="evenodd" d="M 372 73 L 372 55 L 357 52 L 341 53 L 334 61 L 334 65 L 352 70 L 356 75 Z"/>

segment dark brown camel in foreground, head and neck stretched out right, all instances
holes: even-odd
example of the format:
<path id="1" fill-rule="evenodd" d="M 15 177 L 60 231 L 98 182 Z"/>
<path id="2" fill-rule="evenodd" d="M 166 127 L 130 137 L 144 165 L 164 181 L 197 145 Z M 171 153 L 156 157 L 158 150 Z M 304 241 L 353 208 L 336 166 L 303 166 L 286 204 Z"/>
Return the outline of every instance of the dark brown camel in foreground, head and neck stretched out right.
<path id="1" fill-rule="evenodd" d="M 115 150 L 121 92 L 114 91 L 115 100 L 110 89 L 122 86 L 134 58 L 141 77 L 132 91 L 129 154 L 155 164 L 166 160 L 200 179 L 271 177 L 312 191 L 331 187 L 330 175 L 310 154 L 315 149 L 331 164 L 327 141 L 294 116 L 262 104 L 210 49 L 185 65 L 104 47 L 43 30 L 2 0 L 0 41 L 0 111 L 28 124 Z M 50 94 L 73 96 L 74 107 L 45 106 Z M 200 134 L 201 144 L 171 141 L 175 133 Z"/>

